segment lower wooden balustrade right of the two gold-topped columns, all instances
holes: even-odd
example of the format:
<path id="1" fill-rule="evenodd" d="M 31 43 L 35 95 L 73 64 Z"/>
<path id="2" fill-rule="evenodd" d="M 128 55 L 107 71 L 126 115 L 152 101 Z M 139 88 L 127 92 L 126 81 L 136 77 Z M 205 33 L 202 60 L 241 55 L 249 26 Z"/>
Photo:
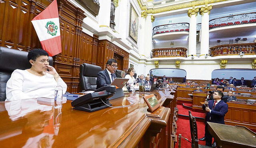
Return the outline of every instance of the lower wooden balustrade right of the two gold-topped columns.
<path id="1" fill-rule="evenodd" d="M 241 43 L 241 44 L 226 44 L 210 47 L 211 56 L 219 55 L 240 55 L 244 52 L 245 55 L 255 55 L 256 43 Z"/>

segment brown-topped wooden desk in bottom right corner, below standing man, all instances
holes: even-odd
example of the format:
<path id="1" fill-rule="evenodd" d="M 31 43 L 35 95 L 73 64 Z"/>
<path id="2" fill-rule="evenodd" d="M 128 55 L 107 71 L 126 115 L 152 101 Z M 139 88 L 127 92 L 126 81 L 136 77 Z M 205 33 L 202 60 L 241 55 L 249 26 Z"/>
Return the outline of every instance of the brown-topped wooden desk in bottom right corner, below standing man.
<path id="1" fill-rule="evenodd" d="M 220 148 L 256 148 L 256 133 L 244 126 L 207 122 L 208 130 Z"/>

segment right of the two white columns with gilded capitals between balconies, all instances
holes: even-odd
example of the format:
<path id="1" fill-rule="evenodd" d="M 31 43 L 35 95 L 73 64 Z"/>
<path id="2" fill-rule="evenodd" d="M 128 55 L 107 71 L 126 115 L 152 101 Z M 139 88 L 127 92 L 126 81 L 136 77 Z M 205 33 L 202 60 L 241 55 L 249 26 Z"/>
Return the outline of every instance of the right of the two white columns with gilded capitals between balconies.
<path id="1" fill-rule="evenodd" d="M 209 15 L 210 15 L 210 10 L 212 10 L 212 6 L 205 6 L 205 7 L 201 7 L 200 12 L 199 12 L 199 14 L 202 15 L 200 56 L 206 55 L 209 53 Z"/>

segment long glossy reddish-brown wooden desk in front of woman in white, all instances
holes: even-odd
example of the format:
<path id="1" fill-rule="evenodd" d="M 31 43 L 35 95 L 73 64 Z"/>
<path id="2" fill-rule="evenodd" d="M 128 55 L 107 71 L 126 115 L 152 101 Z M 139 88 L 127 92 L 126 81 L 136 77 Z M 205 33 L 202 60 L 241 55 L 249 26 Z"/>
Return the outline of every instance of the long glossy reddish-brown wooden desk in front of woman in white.
<path id="1" fill-rule="evenodd" d="M 146 103 L 134 93 L 110 101 L 112 106 L 129 105 L 131 102 L 134 105 L 108 107 L 96 112 L 74 110 L 71 101 L 63 104 L 62 110 L 41 105 L 36 99 L 1 102 L 0 146 L 170 147 L 174 124 L 170 115 L 174 114 L 171 112 L 174 109 L 168 107 L 172 107 L 173 96 L 167 89 L 152 93 L 158 100 L 162 99 L 162 107 L 153 113 L 146 111 Z"/>

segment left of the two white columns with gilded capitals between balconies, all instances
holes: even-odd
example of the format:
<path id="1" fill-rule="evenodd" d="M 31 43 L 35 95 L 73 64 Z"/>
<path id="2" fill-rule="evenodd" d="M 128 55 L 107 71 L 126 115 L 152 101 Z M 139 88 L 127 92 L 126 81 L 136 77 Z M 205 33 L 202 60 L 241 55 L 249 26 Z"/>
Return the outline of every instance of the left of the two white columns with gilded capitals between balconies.
<path id="1" fill-rule="evenodd" d="M 196 55 L 196 16 L 199 12 L 199 8 L 192 8 L 188 10 L 188 16 L 190 17 L 189 23 L 189 37 L 188 37 L 188 54 Z"/>

